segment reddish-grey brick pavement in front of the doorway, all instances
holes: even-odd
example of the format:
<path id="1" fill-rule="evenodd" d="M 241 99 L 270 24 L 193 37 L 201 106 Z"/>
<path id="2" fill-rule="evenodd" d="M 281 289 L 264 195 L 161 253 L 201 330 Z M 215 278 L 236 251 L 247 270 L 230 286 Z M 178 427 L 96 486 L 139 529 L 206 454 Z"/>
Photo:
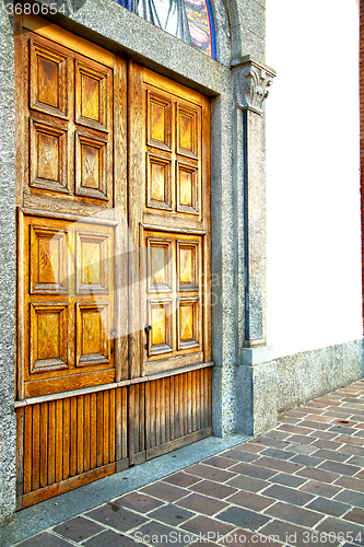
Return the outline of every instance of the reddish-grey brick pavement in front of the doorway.
<path id="1" fill-rule="evenodd" d="M 364 545 L 364 381 L 22 547 Z"/>

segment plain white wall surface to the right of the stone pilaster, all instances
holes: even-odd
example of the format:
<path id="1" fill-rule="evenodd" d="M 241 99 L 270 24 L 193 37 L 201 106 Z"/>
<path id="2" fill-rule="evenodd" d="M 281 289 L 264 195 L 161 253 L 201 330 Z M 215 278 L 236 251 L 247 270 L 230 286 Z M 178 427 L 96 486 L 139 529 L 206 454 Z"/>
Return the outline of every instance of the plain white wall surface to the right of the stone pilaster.
<path id="1" fill-rule="evenodd" d="M 359 0 L 267 0 L 268 344 L 362 336 Z"/>

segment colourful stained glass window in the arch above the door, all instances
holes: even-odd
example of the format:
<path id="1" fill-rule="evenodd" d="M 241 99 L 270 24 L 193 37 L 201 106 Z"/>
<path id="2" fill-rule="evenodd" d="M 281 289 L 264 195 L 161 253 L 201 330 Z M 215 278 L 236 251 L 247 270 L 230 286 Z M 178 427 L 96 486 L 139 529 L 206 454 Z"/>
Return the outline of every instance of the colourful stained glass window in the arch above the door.
<path id="1" fill-rule="evenodd" d="M 216 58 L 210 0 L 114 0 L 187 44 Z"/>

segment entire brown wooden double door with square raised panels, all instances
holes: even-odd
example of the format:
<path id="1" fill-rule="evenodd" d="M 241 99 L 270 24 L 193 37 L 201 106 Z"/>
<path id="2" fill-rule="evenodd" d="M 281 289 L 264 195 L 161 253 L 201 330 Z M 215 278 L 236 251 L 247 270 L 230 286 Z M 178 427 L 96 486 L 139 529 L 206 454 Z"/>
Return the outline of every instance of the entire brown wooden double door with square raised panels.
<path id="1" fill-rule="evenodd" d="M 209 100 L 16 40 L 17 508 L 211 434 Z"/>

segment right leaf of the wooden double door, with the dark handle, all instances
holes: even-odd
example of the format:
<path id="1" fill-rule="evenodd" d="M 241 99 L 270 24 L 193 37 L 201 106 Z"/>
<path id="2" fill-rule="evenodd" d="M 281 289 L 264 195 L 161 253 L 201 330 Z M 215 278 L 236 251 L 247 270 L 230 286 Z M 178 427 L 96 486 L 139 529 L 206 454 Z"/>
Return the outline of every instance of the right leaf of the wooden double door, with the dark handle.
<path id="1" fill-rule="evenodd" d="M 129 82 L 130 370 L 151 380 L 149 458 L 211 431 L 210 102 L 133 63 Z"/>

